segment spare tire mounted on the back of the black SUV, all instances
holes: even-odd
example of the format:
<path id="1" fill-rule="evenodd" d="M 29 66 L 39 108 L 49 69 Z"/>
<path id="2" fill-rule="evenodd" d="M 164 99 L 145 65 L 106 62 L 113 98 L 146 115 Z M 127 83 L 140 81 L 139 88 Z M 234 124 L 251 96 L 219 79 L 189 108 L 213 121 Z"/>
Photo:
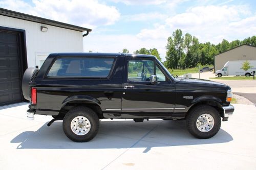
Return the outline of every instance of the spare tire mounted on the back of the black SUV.
<path id="1" fill-rule="evenodd" d="M 31 86 L 29 83 L 35 80 L 38 71 L 38 68 L 30 67 L 24 72 L 22 79 L 22 92 L 26 100 L 31 100 Z"/>

